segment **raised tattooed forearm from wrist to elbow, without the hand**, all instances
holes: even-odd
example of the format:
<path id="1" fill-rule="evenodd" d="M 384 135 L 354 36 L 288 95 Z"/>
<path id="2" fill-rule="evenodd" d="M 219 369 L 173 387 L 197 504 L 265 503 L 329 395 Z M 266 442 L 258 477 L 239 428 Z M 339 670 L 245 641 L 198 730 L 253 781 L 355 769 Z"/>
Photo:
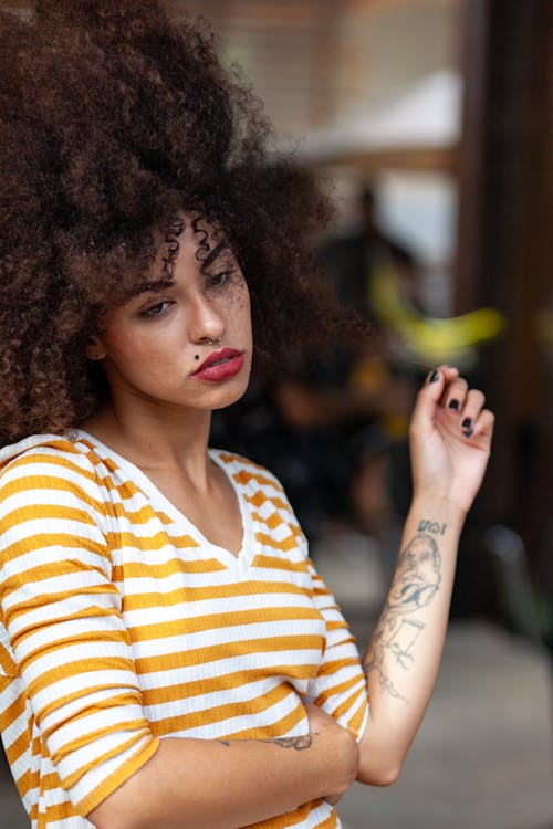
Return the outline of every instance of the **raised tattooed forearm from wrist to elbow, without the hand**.
<path id="1" fill-rule="evenodd" d="M 418 497 L 405 525 L 388 597 L 364 658 L 371 714 L 358 779 L 396 779 L 432 693 L 446 636 L 465 515 Z"/>

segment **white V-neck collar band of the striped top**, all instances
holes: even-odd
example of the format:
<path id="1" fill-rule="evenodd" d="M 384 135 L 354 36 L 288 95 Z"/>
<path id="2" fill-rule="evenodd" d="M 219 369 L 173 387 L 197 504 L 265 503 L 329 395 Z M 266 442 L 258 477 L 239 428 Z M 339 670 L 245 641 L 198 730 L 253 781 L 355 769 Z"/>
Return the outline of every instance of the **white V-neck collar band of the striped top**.
<path id="1" fill-rule="evenodd" d="M 204 549 L 208 549 L 215 557 L 217 557 L 221 562 L 221 564 L 225 564 L 226 567 L 230 569 L 238 569 L 239 571 L 244 571 L 251 565 L 257 554 L 258 542 L 255 538 L 255 531 L 253 526 L 250 505 L 243 497 L 243 493 L 241 492 L 239 484 L 234 480 L 234 476 L 232 474 L 232 461 L 223 461 L 221 458 L 221 450 L 208 449 L 208 457 L 211 461 L 213 461 L 213 463 L 219 466 L 219 469 L 226 475 L 238 500 L 238 505 L 240 507 L 240 517 L 242 521 L 242 544 L 237 555 L 231 553 L 226 547 L 220 547 L 218 544 L 213 544 L 212 542 L 210 542 L 209 538 L 207 538 L 204 533 L 201 533 L 201 531 L 196 526 L 196 524 L 194 524 L 184 512 L 175 506 L 170 499 L 168 499 L 161 492 L 161 490 L 156 486 L 152 479 L 135 463 L 128 461 L 114 449 L 106 445 L 93 434 L 86 432 L 84 429 L 72 429 L 71 431 L 80 440 L 90 444 L 93 450 L 98 453 L 102 460 L 113 461 L 116 464 L 117 469 L 124 471 L 128 480 L 140 490 L 140 492 L 148 500 L 150 506 L 153 506 L 156 512 L 164 512 L 179 527 L 186 526 L 187 532 L 196 542 L 198 542 L 199 546 Z"/>

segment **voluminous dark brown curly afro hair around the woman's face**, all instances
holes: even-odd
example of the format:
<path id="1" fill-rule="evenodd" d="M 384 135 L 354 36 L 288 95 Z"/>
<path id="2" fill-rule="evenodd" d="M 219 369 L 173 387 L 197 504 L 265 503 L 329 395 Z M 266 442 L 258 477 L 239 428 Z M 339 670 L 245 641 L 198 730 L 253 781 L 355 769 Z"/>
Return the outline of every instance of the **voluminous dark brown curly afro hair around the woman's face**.
<path id="1" fill-rule="evenodd" d="M 96 410 L 105 382 L 86 344 L 182 210 L 221 228 L 240 262 L 258 365 L 342 326 L 313 288 L 327 201 L 269 153 L 259 102 L 204 23 L 150 0 L 0 12 L 0 113 L 1 442 Z"/>

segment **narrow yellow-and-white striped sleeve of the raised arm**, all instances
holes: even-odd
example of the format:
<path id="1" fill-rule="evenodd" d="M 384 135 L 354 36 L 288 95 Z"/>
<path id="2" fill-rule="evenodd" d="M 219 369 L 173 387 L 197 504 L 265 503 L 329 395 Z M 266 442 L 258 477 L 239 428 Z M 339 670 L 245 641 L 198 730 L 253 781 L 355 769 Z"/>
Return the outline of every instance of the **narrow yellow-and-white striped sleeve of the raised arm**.
<path id="1" fill-rule="evenodd" d="M 355 638 L 333 595 L 314 564 L 309 567 L 313 580 L 313 600 L 326 623 L 326 648 L 307 697 L 353 732 L 359 741 L 368 720 L 368 699 Z"/>

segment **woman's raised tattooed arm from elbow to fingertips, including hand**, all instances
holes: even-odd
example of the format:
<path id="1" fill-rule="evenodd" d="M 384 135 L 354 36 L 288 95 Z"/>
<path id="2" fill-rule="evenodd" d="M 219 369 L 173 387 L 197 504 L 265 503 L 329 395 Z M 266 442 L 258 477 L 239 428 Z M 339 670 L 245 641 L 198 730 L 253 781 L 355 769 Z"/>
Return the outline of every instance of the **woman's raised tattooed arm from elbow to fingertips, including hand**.
<path id="1" fill-rule="evenodd" d="M 481 484 L 493 414 L 481 391 L 442 366 L 419 391 L 410 427 L 414 499 L 387 600 L 364 667 L 371 701 L 358 779 L 397 778 L 434 690 L 459 536 Z"/>

